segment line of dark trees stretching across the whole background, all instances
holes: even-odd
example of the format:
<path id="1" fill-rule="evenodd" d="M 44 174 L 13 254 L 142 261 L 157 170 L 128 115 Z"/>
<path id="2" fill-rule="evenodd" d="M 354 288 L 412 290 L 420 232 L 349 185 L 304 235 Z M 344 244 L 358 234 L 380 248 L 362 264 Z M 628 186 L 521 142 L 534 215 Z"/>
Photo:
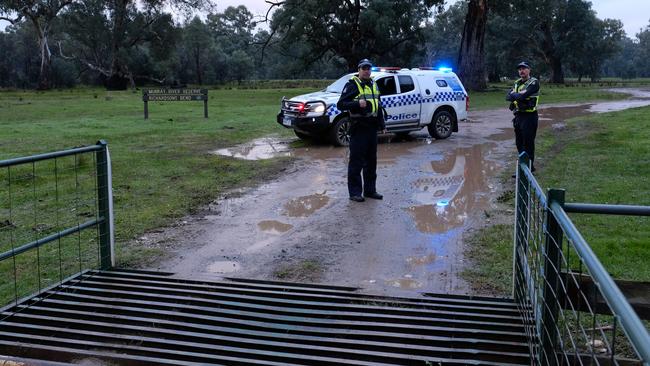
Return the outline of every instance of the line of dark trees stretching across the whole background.
<path id="1" fill-rule="evenodd" d="M 267 3 L 260 19 L 244 6 L 216 12 L 211 0 L 0 0 L 11 23 L 0 32 L 0 87 L 335 78 L 364 57 L 450 66 L 472 89 L 514 76 L 521 60 L 556 83 L 650 77 L 650 26 L 631 38 L 585 0 Z"/>

